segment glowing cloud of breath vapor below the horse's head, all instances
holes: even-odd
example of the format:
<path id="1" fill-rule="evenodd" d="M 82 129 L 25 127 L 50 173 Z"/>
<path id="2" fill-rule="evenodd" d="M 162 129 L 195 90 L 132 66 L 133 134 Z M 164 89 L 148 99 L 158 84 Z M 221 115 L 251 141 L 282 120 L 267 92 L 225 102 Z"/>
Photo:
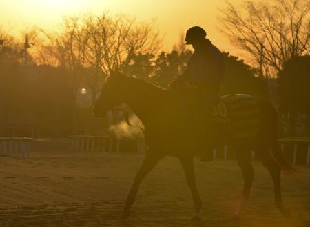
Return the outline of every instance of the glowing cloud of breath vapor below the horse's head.
<path id="1" fill-rule="evenodd" d="M 122 119 L 121 121 L 118 121 L 116 124 L 111 124 L 109 127 L 109 132 L 114 134 L 118 139 L 143 137 L 143 132 L 141 128 L 135 127 L 135 126 L 143 127 L 143 124 L 140 121 L 140 119 L 138 119 L 136 115 L 130 115 L 129 120 L 132 126 L 129 126 Z"/>

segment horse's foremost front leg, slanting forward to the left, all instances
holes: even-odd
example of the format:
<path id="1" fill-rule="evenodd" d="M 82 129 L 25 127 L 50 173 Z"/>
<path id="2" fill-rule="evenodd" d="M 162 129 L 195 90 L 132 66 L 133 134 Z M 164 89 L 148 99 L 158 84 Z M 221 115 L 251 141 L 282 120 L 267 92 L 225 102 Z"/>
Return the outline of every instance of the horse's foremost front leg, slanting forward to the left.
<path id="1" fill-rule="evenodd" d="M 156 154 L 153 151 L 149 151 L 147 152 L 147 155 L 145 155 L 143 164 L 140 170 L 138 170 L 136 173 L 136 177 L 134 177 L 134 182 L 132 183 L 132 188 L 130 188 L 130 191 L 127 195 L 126 204 L 121 219 L 125 219 L 130 215 L 130 208 L 132 207 L 132 204 L 134 204 L 134 200 L 136 199 L 136 194 L 138 193 L 138 188 L 141 182 L 146 177 L 146 175 L 151 172 L 151 170 L 162 157 L 163 155 Z"/>

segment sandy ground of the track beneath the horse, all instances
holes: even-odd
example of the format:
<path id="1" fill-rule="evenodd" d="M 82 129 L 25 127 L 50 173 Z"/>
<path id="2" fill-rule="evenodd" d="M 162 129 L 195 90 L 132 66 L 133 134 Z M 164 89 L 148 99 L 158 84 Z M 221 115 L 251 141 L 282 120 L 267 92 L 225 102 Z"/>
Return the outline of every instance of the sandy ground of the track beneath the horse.
<path id="1" fill-rule="evenodd" d="M 203 221 L 192 222 L 192 196 L 178 159 L 167 157 L 141 185 L 132 215 L 119 221 L 123 201 L 143 156 L 34 152 L 0 157 L 0 226 L 310 226 L 310 168 L 282 176 L 285 219 L 273 206 L 267 170 L 254 162 L 249 207 L 228 220 L 242 190 L 236 161 L 195 161 Z"/>

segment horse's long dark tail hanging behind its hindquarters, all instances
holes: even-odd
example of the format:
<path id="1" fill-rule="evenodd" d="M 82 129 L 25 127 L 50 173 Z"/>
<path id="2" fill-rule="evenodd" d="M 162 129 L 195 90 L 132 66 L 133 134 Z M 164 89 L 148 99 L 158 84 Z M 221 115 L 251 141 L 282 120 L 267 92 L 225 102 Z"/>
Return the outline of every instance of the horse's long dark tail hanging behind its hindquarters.
<path id="1" fill-rule="evenodd" d="M 271 127 L 271 155 L 278 166 L 282 168 L 282 170 L 289 173 L 290 175 L 296 174 L 298 171 L 289 163 L 289 161 L 287 161 L 278 141 L 278 115 L 276 109 L 271 106 L 270 103 L 267 103 L 267 106 L 271 116 L 269 121 Z"/>

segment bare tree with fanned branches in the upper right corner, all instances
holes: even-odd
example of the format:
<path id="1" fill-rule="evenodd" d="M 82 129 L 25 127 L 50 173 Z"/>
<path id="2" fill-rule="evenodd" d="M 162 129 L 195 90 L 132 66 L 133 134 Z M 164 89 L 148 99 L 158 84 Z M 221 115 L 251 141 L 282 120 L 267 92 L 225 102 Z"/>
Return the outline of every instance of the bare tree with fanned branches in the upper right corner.
<path id="1" fill-rule="evenodd" d="M 247 51 L 269 77 L 287 59 L 309 54 L 310 0 L 244 1 L 222 9 L 221 32 L 234 46 Z"/>

